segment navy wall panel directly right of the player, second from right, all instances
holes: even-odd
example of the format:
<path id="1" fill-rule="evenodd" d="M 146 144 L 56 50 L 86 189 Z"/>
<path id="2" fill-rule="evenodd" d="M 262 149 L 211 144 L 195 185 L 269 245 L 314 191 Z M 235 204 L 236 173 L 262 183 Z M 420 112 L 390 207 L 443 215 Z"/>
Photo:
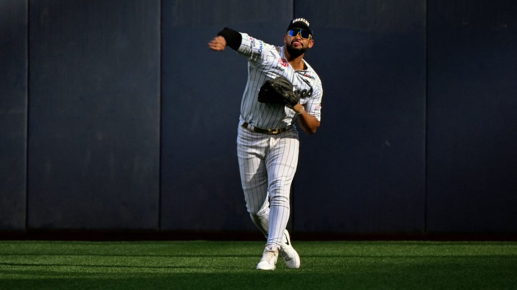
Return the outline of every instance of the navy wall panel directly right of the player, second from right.
<path id="1" fill-rule="evenodd" d="M 294 227 L 424 231 L 425 1 L 297 0 L 314 29 L 306 59 L 322 121 L 301 136 Z"/>

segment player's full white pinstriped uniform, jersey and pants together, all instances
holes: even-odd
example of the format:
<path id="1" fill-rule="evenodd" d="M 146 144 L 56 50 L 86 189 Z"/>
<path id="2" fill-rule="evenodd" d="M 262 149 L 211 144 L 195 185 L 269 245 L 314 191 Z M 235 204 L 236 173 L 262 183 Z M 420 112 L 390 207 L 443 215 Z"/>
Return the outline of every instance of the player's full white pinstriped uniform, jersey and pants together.
<path id="1" fill-rule="evenodd" d="M 257 101 L 265 80 L 283 76 L 300 93 L 305 110 L 321 118 L 323 95 L 320 78 L 305 62 L 307 70 L 294 70 L 283 47 L 273 46 L 241 33 L 237 53 L 248 59 L 248 82 L 242 95 L 237 135 L 237 155 L 242 189 L 252 221 L 267 237 L 268 245 L 280 247 L 290 215 L 291 184 L 298 166 L 299 139 L 295 126 L 277 135 L 251 132 L 247 122 L 262 129 L 293 125 L 296 113 L 280 104 Z"/>

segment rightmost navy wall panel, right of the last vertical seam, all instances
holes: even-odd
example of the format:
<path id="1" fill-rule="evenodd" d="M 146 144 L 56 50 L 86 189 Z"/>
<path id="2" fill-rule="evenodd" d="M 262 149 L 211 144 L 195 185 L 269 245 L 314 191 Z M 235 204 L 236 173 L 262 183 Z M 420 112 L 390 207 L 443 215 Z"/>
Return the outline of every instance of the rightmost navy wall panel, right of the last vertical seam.
<path id="1" fill-rule="evenodd" d="M 517 232 L 517 2 L 429 2 L 429 232 Z"/>

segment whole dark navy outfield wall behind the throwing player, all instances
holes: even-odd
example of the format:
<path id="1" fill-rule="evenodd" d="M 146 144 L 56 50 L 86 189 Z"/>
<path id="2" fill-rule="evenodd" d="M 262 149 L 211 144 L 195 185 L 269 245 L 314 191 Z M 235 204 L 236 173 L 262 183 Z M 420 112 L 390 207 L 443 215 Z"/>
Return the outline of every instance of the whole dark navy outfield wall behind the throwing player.
<path id="1" fill-rule="evenodd" d="M 517 2 L 0 0 L 0 231 L 252 232 L 246 59 L 306 17 L 324 86 L 290 229 L 517 234 Z M 7 68 L 7 69 L 4 69 Z M 258 233 L 257 233 L 258 235 Z"/>

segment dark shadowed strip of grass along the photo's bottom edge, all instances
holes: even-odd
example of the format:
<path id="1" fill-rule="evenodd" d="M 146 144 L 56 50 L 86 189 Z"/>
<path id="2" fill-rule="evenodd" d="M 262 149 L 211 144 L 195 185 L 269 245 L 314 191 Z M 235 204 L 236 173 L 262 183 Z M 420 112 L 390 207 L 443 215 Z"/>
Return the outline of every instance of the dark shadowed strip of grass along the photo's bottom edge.
<path id="1" fill-rule="evenodd" d="M 124 275 L 122 275 L 124 276 Z M 501 278 L 501 277 L 499 277 Z M 515 279 L 449 278 L 412 273 L 168 273 L 132 277 L 1 280 L 0 289 L 511 289 Z"/>

